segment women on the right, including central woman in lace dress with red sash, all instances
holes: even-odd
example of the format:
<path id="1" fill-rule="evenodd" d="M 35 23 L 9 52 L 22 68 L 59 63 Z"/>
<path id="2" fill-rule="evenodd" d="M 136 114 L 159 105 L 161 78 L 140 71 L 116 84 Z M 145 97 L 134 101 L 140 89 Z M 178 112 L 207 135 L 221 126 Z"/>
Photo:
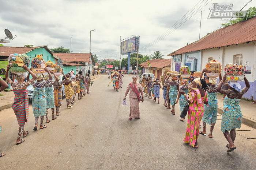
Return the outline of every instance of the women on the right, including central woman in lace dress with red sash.
<path id="1" fill-rule="evenodd" d="M 203 76 L 207 69 L 204 69 L 199 77 L 191 77 L 189 79 L 180 79 L 178 83 L 177 76 L 171 74 L 166 75 L 163 80 L 163 99 L 165 100 L 164 106 L 167 109 L 172 109 L 171 114 L 175 115 L 175 104 L 180 104 L 180 111 L 184 109 L 188 102 L 187 113 L 187 130 L 183 141 L 188 143 L 189 146 L 198 148 L 197 139 L 199 134 L 206 135 L 206 124 L 210 125 L 209 138 L 213 138 L 212 131 L 217 120 L 218 112 L 218 99 L 217 92 L 226 95 L 224 98 L 224 110 L 222 114 L 221 131 L 223 132 L 228 144 L 227 152 L 231 152 L 236 149 L 234 141 L 236 138 L 236 128 L 241 127 L 241 108 L 239 102 L 242 95 L 248 91 L 250 84 L 246 77 L 244 78 L 245 87 L 241 89 L 241 85 L 238 82 L 227 82 L 225 86 L 227 90 L 223 90 L 223 84 L 226 81 L 226 75 L 219 75 L 219 81 L 217 84 L 217 78 L 208 78 Z M 172 78 L 170 79 L 170 77 Z M 158 98 L 159 103 L 159 89 L 161 83 L 158 79 L 152 81 L 149 76 L 146 78 L 146 74 L 143 75 L 142 83 L 137 83 L 138 77 L 134 75 L 132 82 L 128 85 L 125 92 L 124 101 L 129 93 L 130 100 L 130 115 L 129 120 L 132 118 L 140 118 L 139 102 L 144 101 L 143 92 L 146 93 L 148 98 L 154 97 L 154 102 Z M 181 86 L 180 86 L 181 84 Z M 170 107 L 172 105 L 172 108 Z M 200 129 L 200 122 L 203 120 L 203 130 Z M 180 121 L 184 121 L 181 118 Z M 230 132 L 229 132 L 230 131 Z"/>

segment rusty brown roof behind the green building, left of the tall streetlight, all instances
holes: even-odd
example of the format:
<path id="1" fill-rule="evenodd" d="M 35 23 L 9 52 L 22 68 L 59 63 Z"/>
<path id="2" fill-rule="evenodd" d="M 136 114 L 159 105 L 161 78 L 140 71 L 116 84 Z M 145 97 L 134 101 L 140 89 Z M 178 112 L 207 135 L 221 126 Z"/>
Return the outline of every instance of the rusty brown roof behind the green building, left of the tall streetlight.
<path id="1" fill-rule="evenodd" d="M 63 62 L 89 62 L 89 53 L 53 53 L 58 58 L 61 58 Z M 91 57 L 93 58 L 92 54 Z"/>

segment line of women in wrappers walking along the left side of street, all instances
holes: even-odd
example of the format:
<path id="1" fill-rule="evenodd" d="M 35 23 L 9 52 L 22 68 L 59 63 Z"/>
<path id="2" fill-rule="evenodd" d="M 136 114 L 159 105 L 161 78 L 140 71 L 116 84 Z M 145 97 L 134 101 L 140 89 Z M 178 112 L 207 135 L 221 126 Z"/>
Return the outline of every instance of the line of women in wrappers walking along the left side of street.
<path id="1" fill-rule="evenodd" d="M 46 117 L 46 123 L 49 123 L 51 121 L 48 117 L 49 108 L 52 111 L 52 120 L 55 120 L 57 116 L 60 115 L 59 109 L 62 105 L 63 97 L 62 84 L 64 84 L 65 86 L 65 97 L 67 101 L 67 108 L 69 109 L 72 108 L 71 104 L 74 104 L 74 102 L 76 101 L 76 93 L 78 93 L 78 100 L 82 99 L 83 96 L 86 95 L 86 90 L 87 94 L 90 93 L 89 88 L 91 83 L 91 79 L 88 74 L 86 73 L 86 76 L 83 76 L 82 71 L 79 71 L 79 75 L 71 75 L 70 72 L 64 75 L 64 73 L 62 72 L 64 79 L 60 81 L 59 77 L 56 76 L 53 71 L 49 71 L 47 68 L 45 68 L 45 71 L 48 75 L 35 75 L 26 65 L 22 67 L 29 72 L 26 77 L 26 82 L 24 81 L 24 74 L 20 73 L 14 73 L 14 78 L 16 79 L 16 81 L 13 82 L 8 77 L 10 70 L 9 65 L 7 66 L 7 70 L 5 72 L 6 82 L 11 85 L 15 94 L 12 109 L 14 110 L 19 125 L 16 145 L 25 142 L 25 140 L 21 139 L 21 137 L 25 138 L 29 134 L 29 131 L 25 131 L 24 125 L 29 118 L 29 100 L 27 87 L 30 84 L 34 88 L 32 96 L 32 107 L 35 117 L 35 126 L 33 130 L 37 130 L 39 117 L 39 129 L 45 129 L 47 127 L 43 124 L 44 116 Z M 32 79 L 29 79 L 30 75 L 32 76 Z M 0 80 L 0 91 L 3 91 L 8 87 L 8 84 L 6 82 L 3 79 Z M 54 113 L 54 107 L 56 108 L 56 116 Z M 4 155 L 5 153 L 1 153 L 0 157 Z"/>

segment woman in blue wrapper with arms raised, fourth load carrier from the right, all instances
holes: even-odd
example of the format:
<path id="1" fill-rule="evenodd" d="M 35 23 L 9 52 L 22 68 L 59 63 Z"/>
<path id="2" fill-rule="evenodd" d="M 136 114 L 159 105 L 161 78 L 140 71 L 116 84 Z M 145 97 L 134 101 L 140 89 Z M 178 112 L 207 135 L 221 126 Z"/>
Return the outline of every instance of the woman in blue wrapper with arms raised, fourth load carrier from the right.
<path id="1" fill-rule="evenodd" d="M 172 105 L 172 115 L 175 115 L 175 104 L 176 104 L 176 99 L 178 96 L 178 91 L 180 84 L 178 82 L 176 82 L 177 80 L 177 76 L 172 76 L 172 81 L 169 81 L 169 77 L 172 74 L 169 74 L 169 76 L 167 77 L 167 81 L 170 84 L 170 90 L 169 90 L 169 97 L 170 97 L 170 105 Z"/>

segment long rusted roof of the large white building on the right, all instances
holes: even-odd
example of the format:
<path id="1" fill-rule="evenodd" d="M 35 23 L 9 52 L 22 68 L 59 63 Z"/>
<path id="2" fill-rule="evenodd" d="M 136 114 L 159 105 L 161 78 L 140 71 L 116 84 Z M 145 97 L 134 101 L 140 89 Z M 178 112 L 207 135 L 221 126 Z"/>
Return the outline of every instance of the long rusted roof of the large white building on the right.
<path id="1" fill-rule="evenodd" d="M 201 39 L 172 52 L 170 55 L 182 54 L 204 50 L 208 48 L 230 46 L 256 40 L 256 17 L 247 21 L 240 21 L 236 24 L 211 32 Z"/>

